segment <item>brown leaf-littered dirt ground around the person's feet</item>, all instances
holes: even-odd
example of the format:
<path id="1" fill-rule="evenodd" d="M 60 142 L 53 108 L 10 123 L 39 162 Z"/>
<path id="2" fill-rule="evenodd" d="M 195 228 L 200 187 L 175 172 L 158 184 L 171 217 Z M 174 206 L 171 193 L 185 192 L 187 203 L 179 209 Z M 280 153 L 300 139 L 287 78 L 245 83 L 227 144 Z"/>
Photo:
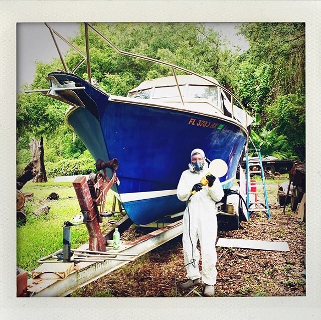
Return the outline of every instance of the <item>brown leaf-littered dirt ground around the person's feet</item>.
<path id="1" fill-rule="evenodd" d="M 273 206 L 272 206 L 273 207 Z M 130 227 L 122 239 L 132 240 Z M 138 234 L 139 236 L 139 234 Z M 286 241 L 290 251 L 264 251 L 217 247 L 215 296 L 304 296 L 305 223 L 289 208 L 251 215 L 239 230 L 220 231 L 218 238 Z M 78 289 L 82 297 L 185 297 L 202 296 L 203 285 L 182 290 L 186 280 L 182 237 L 158 247 L 122 268 Z M 201 261 L 200 261 L 201 267 Z"/>

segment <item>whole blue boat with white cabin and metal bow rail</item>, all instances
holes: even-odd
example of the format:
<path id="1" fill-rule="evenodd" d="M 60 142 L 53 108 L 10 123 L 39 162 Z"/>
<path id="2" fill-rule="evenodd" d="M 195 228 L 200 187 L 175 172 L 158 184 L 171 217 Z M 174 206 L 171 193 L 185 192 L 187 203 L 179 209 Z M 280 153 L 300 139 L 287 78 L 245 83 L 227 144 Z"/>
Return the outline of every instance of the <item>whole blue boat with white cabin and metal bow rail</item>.
<path id="1" fill-rule="evenodd" d="M 177 185 L 194 148 L 203 149 L 209 161 L 223 159 L 228 171 L 220 182 L 225 190 L 233 186 L 251 117 L 212 77 L 123 54 L 171 66 L 173 76 L 143 81 L 127 96 L 116 96 L 90 76 L 87 81 L 59 70 L 48 75 L 50 89 L 43 93 L 70 105 L 65 122 L 95 161 L 118 159 L 119 184 L 112 190 L 129 218 L 146 225 L 185 210 Z M 177 75 L 177 69 L 188 74 Z"/>

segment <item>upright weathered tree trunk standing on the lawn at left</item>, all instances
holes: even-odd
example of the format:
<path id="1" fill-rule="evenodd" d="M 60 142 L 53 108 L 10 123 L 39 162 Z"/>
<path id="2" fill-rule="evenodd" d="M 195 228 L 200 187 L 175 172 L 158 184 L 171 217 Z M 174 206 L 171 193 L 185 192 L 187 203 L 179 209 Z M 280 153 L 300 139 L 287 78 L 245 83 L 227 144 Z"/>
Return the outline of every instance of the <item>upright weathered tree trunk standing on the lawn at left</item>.
<path id="1" fill-rule="evenodd" d="M 29 143 L 32 153 L 31 160 L 35 162 L 35 172 L 33 182 L 47 182 L 47 175 L 44 163 L 44 139 L 41 137 L 39 140 L 32 138 Z"/>

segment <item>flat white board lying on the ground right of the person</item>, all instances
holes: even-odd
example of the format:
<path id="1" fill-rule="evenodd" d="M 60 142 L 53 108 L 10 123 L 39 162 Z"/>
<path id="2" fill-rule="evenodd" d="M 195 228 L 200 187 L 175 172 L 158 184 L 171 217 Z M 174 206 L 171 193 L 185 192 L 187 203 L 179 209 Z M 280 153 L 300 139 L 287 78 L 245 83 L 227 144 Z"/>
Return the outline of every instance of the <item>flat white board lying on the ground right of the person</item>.
<path id="1" fill-rule="evenodd" d="M 290 251 L 287 242 L 219 238 L 217 247 L 244 248 L 271 251 Z"/>

